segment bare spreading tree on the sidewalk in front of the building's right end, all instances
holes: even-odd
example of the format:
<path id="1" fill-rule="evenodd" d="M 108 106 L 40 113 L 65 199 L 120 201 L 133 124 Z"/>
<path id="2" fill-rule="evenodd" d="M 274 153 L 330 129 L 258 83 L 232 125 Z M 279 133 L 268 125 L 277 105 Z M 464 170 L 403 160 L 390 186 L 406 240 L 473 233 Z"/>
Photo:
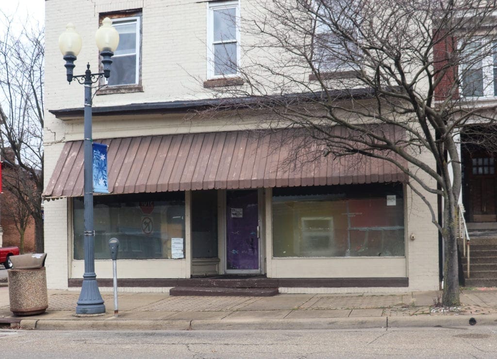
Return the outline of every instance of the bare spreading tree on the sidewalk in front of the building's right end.
<path id="1" fill-rule="evenodd" d="M 460 132 L 471 128 L 481 145 L 496 143 L 485 126 L 494 122 L 496 104 L 477 101 L 497 91 L 494 63 L 485 62 L 497 44 L 495 5 L 259 1 L 238 20 L 245 39 L 238 75 L 245 84 L 216 89 L 226 99 L 216 111 L 263 115 L 261 126 L 307 131 L 317 155 L 379 158 L 409 176 L 407 185 L 443 237 L 447 306 L 459 304 Z M 237 63 L 226 58 L 227 68 Z M 402 135 L 392 136 L 385 125 Z M 424 193 L 443 199 L 442 221 Z"/>

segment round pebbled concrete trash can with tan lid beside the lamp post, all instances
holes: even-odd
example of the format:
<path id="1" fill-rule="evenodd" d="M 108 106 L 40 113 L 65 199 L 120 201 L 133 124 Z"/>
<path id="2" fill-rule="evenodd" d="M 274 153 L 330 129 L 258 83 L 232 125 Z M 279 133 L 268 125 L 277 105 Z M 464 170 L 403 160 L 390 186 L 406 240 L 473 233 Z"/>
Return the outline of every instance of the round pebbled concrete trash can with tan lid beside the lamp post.
<path id="1" fill-rule="evenodd" d="M 7 270 L 10 311 L 15 315 L 44 313 L 48 308 L 47 253 L 13 255 Z"/>

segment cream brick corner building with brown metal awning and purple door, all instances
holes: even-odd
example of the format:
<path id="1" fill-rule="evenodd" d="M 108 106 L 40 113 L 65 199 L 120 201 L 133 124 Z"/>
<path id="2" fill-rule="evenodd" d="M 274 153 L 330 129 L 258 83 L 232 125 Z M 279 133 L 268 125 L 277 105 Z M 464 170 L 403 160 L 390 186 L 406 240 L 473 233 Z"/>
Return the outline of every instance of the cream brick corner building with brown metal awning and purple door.
<path id="1" fill-rule="evenodd" d="M 279 171 L 283 155 L 267 145 L 277 143 L 272 135 L 243 131 L 258 128 L 259 118 L 192 115 L 215 97 L 213 86 L 240 86 L 236 70 L 212 55 L 213 23 L 249 4 L 46 0 L 49 288 L 77 287 L 84 271 L 83 87 L 65 80 L 58 37 L 73 22 L 83 38 L 75 74 L 86 62 L 95 72 L 93 36 L 104 16 L 113 18 L 121 48 L 109 86 L 93 98 L 93 141 L 109 145 L 111 193 L 94 196 L 101 286 L 112 278 L 107 241 L 116 237 L 118 278 L 129 290 L 167 291 L 178 280 L 241 275 L 274 279 L 282 293 L 439 288 L 436 228 L 399 170 L 323 158 L 313 170 Z M 239 49 L 249 36 L 222 26 L 228 28 L 222 51 L 248 61 Z M 436 197 L 426 196 L 436 208 Z"/>

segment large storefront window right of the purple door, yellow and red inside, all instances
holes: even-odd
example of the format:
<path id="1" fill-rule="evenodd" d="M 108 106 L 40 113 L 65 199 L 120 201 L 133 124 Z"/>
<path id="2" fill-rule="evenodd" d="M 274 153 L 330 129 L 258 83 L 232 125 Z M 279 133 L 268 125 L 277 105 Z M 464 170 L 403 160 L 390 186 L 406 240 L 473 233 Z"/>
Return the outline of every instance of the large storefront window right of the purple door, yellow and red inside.
<path id="1" fill-rule="evenodd" d="M 401 184 L 274 188 L 274 257 L 404 256 Z"/>

